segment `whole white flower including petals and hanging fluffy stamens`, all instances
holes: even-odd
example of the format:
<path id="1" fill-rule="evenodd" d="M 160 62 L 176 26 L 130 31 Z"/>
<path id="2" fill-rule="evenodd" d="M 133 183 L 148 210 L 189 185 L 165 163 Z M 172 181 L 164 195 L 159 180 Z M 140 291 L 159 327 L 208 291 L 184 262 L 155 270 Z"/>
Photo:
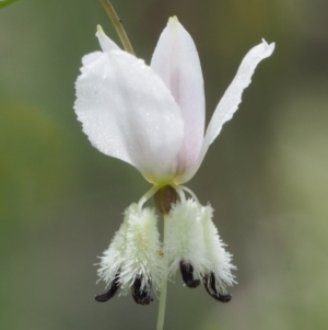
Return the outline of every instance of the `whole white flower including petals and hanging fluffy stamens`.
<path id="1" fill-rule="evenodd" d="M 234 282 L 231 254 L 224 250 L 211 220 L 212 209 L 201 206 L 181 184 L 199 169 L 222 125 L 237 110 L 255 68 L 272 54 L 274 44 L 262 41 L 247 53 L 204 132 L 204 92 L 198 53 L 191 36 L 175 16 L 168 20 L 150 66 L 119 49 L 101 27 L 96 35 L 103 52 L 83 57 L 75 83 L 74 110 L 83 130 L 95 148 L 132 164 L 153 184 L 138 204 L 140 212 L 144 202 L 161 189 L 168 186 L 174 191 L 164 202 L 169 207 L 173 204 L 167 237 L 172 246 L 165 242 L 164 249 L 169 273 L 179 268 L 188 286 L 203 282 L 211 296 L 227 301 L 231 296 L 219 291 L 224 292 L 224 285 Z M 184 191 L 192 198 L 186 201 Z M 169 207 L 164 206 L 164 213 Z M 112 289 L 106 297 L 112 297 L 118 287 L 125 291 L 131 286 L 132 294 L 136 287 L 140 289 L 137 299 L 144 297 L 149 303 L 150 287 L 157 287 L 161 266 L 150 250 L 143 253 L 136 246 L 132 254 L 128 252 L 129 244 L 120 243 L 128 237 L 125 226 L 102 259 L 99 275 Z M 152 230 L 155 242 L 157 234 Z M 129 232 L 129 240 L 137 239 L 137 234 Z M 157 244 L 156 241 L 154 246 Z M 160 252 L 160 248 L 153 249 Z"/>

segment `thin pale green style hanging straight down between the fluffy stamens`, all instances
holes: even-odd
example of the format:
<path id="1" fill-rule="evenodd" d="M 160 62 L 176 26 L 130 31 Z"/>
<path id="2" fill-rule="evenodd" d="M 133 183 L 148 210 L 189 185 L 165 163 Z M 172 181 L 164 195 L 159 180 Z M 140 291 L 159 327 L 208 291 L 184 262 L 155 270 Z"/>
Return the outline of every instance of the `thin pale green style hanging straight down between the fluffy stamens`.
<path id="1" fill-rule="evenodd" d="M 165 248 L 165 238 L 167 238 L 169 216 L 164 215 L 164 235 L 163 235 L 163 249 Z M 163 272 L 161 288 L 160 288 L 160 304 L 159 304 L 159 315 L 157 315 L 157 327 L 156 330 L 164 329 L 164 318 L 165 318 L 165 306 L 166 306 L 166 292 L 167 292 L 167 259 L 164 254 L 165 270 Z"/>

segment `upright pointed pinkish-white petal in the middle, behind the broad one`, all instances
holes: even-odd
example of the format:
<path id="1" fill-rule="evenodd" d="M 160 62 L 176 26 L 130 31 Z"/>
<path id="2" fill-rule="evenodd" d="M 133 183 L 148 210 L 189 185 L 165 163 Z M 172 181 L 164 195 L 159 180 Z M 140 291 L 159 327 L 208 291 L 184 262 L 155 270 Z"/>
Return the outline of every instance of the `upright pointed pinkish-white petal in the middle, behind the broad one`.
<path id="1" fill-rule="evenodd" d="M 185 138 L 179 153 L 179 172 L 199 156 L 204 133 L 204 92 L 200 61 L 189 33 L 171 18 L 162 32 L 151 67 L 160 75 L 180 106 Z"/>

